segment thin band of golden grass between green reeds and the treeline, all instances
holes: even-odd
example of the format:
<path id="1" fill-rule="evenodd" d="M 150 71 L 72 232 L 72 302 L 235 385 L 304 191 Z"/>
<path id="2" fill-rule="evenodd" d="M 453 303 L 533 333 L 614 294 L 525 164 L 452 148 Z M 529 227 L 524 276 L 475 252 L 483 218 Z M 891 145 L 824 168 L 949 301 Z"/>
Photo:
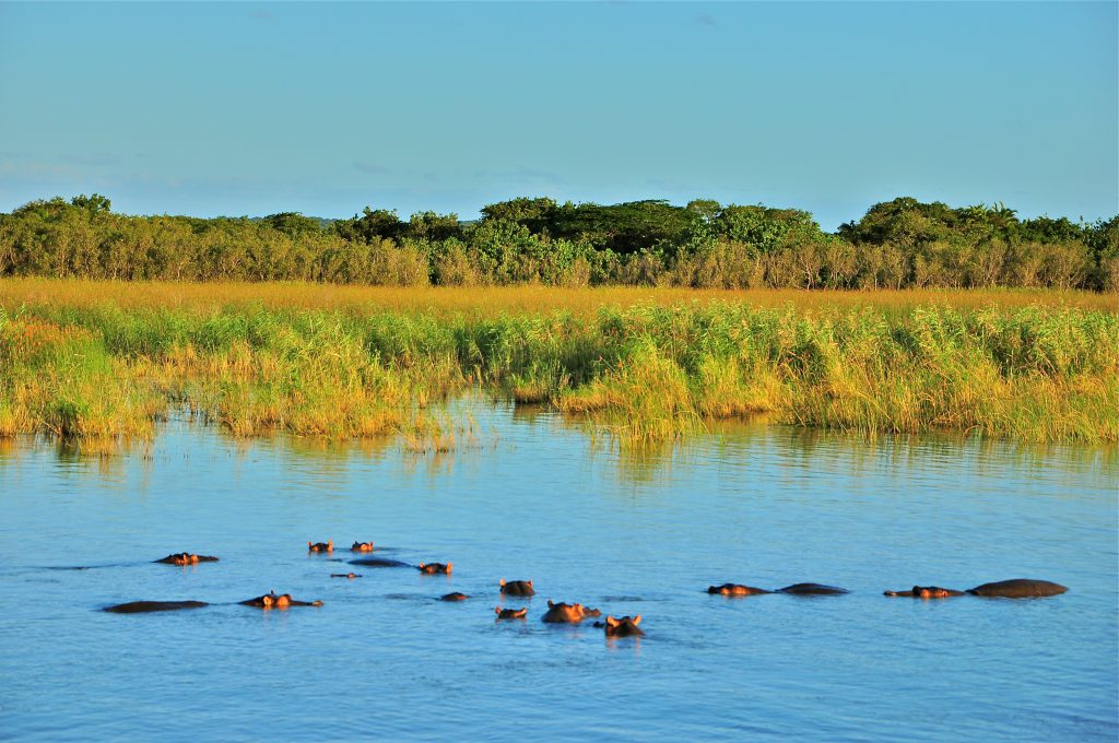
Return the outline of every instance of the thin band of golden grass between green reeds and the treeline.
<path id="1" fill-rule="evenodd" d="M 261 304 L 267 309 L 342 310 L 466 314 L 497 317 L 551 313 L 557 310 L 590 316 L 603 307 L 627 309 L 677 307 L 697 302 L 743 303 L 758 308 L 793 305 L 799 310 L 833 307 L 873 307 L 908 311 L 920 305 L 957 309 L 1028 305 L 1119 312 L 1119 299 L 1075 290 L 876 290 L 833 291 L 796 289 L 671 289 L 648 286 L 557 288 L 517 286 L 355 286 L 305 282 L 126 282 L 66 279 L 0 279 L 0 308 L 21 304 L 76 309 L 111 301 L 124 310 L 171 309 L 216 311 L 231 305 Z"/>

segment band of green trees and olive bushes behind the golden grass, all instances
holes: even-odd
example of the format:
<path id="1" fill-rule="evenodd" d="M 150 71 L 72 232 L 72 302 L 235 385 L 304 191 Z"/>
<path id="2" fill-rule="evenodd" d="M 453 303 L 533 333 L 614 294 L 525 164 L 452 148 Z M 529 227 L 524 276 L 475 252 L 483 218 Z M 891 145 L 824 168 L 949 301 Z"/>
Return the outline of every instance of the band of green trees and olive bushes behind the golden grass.
<path id="1" fill-rule="evenodd" d="M 477 222 L 366 208 L 349 219 L 128 216 L 107 198 L 0 214 L 0 276 L 694 288 L 1049 286 L 1119 291 L 1119 216 L 1018 219 L 896 198 L 837 233 L 799 209 L 517 198 Z"/>

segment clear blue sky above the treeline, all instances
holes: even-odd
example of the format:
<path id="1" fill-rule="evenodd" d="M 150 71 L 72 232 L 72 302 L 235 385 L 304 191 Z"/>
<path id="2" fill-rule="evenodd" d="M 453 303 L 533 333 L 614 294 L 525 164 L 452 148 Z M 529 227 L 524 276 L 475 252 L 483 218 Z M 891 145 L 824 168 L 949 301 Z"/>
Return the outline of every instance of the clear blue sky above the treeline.
<path id="1" fill-rule="evenodd" d="M 0 210 L 1119 211 L 1119 4 L 0 3 Z"/>

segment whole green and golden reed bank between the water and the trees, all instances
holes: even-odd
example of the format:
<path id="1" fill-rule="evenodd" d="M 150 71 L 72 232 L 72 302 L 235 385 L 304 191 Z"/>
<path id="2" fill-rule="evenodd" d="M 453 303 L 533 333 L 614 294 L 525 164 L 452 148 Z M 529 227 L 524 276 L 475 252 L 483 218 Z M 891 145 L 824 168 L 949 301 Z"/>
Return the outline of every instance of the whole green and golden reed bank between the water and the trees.
<path id="1" fill-rule="evenodd" d="M 1119 441 L 1113 298 L 252 290 L 0 283 L 0 435 L 96 449 L 152 435 L 180 405 L 235 435 L 445 441 L 425 408 L 480 386 L 591 416 L 624 444 L 758 413 Z"/>

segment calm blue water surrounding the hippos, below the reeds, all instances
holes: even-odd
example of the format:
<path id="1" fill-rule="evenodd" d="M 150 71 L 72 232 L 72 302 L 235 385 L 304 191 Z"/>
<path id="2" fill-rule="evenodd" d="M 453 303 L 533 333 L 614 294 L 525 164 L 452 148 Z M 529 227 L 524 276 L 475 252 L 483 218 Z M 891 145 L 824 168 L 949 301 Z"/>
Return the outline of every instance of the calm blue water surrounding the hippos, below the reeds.
<path id="1" fill-rule="evenodd" d="M 0 737 L 1119 735 L 1113 452 L 756 426 L 633 460 L 549 415 L 474 417 L 476 445 L 443 457 L 185 423 L 109 460 L 3 444 Z M 348 566 L 308 539 L 454 573 L 330 579 Z M 149 562 L 182 549 L 222 562 Z M 505 603 L 527 621 L 493 621 L 502 576 L 534 580 Z M 1019 576 L 1071 591 L 881 595 Z M 704 593 L 727 581 L 853 593 Z M 232 603 L 273 587 L 326 604 Z M 647 636 L 545 626 L 549 598 L 640 613 Z M 100 611 L 140 599 L 218 605 Z"/>

